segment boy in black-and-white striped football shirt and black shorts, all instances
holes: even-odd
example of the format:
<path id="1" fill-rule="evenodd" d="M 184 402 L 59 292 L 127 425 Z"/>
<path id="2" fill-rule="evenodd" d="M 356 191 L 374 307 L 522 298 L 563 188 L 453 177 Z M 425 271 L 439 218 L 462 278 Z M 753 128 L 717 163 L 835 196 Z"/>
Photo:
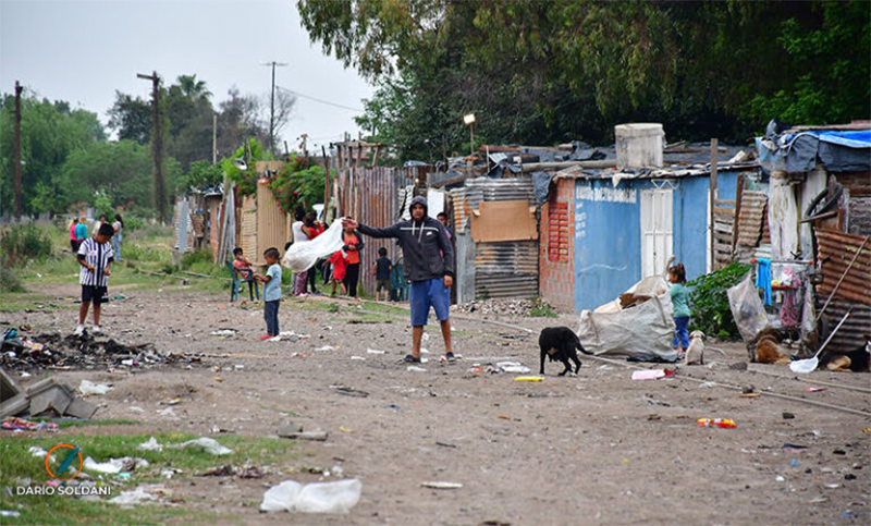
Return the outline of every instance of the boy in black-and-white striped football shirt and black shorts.
<path id="1" fill-rule="evenodd" d="M 88 237 L 78 246 L 78 265 L 82 266 L 78 273 L 78 282 L 82 284 L 82 306 L 78 308 L 76 335 L 85 332 L 85 318 L 88 317 L 91 302 L 94 302 L 94 333 L 100 332 L 100 305 L 106 296 L 111 274 L 109 267 L 114 260 L 112 245 L 109 243 L 112 234 L 114 234 L 112 225 L 103 223 L 94 237 Z"/>

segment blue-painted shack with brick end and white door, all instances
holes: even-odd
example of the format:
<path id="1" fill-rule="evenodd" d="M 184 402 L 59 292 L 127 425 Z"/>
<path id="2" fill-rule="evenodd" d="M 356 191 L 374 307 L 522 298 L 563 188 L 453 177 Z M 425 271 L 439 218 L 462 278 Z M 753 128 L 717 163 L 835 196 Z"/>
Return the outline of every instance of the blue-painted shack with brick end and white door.
<path id="1" fill-rule="evenodd" d="M 576 311 L 593 309 L 641 278 L 661 274 L 672 255 L 688 280 L 728 265 L 738 179 L 758 178 L 758 164 L 740 148 L 714 151 L 713 213 L 708 144 L 666 148 L 663 168 L 580 163 L 543 170 L 542 298 Z"/>

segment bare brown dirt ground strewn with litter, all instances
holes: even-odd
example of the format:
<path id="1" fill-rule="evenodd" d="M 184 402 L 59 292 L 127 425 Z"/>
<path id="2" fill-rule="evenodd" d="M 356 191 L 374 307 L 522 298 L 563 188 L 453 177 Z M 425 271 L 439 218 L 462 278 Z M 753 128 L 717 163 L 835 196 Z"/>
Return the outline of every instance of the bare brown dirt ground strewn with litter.
<path id="1" fill-rule="evenodd" d="M 77 288 L 48 292 L 71 297 Z M 367 318 L 345 301 L 333 302 L 340 305 L 338 313 L 285 301 L 281 330 L 310 338 L 260 342 L 265 325 L 256 305 L 179 291 L 125 294 L 126 299 L 103 310 L 102 325 L 112 338 L 125 344 L 151 342 L 161 352 L 225 356 L 205 357 L 191 368 L 54 371 L 73 386 L 82 379 L 114 386 L 105 396 L 89 399 L 101 404 L 95 418 L 140 423 L 62 433 L 185 431 L 220 441 L 216 428 L 274 437 L 280 425 L 296 421 L 306 430 L 329 433 L 326 442 L 299 442 L 305 460 L 297 467 L 339 465 L 344 477 L 363 482 L 361 499 L 348 515 L 289 517 L 262 514 L 250 502 L 261 501 L 268 487 L 287 478 L 310 482 L 336 477 L 296 473 L 259 480 L 197 478 L 196 485 L 189 479 L 167 481 L 184 505 L 218 512 L 228 524 L 871 521 L 871 435 L 863 431 L 871 419 L 772 395 L 868 414 L 869 375 L 815 371 L 796 379 L 784 366 L 758 364 L 736 370 L 728 366 L 746 362 L 743 346 L 714 344 L 727 355 L 709 352 L 711 365 L 682 366 L 676 377 L 661 380 L 633 381 L 630 364 L 623 358 L 606 363 L 585 356 L 577 377 L 557 377 L 559 364 L 548 364 L 540 382 L 515 381 L 514 374 L 476 376 L 468 372 L 475 364 L 501 360 L 522 362 L 538 372 L 538 331 L 557 325 L 577 328 L 577 319 L 486 320 L 474 314 L 453 319 L 454 351 L 462 360 L 439 363 L 443 345 L 438 326 L 430 325 L 424 345 L 430 350 L 425 355 L 429 362 L 421 364 L 425 371 L 414 371 L 400 363 L 410 348 L 407 315 L 372 319 L 378 317 Z M 0 322 L 66 334 L 75 316 L 72 310 L 3 313 Z M 210 334 L 219 329 L 237 333 L 225 339 Z M 335 350 L 315 351 L 326 345 Z M 739 390 L 703 381 L 752 386 L 762 395 L 738 397 Z M 833 386 L 809 392 L 809 386 L 823 387 L 814 381 Z M 165 408 L 160 402 L 176 395 L 182 399 L 173 406 L 177 416 L 159 415 Z M 737 428 L 699 428 L 696 419 L 701 417 L 732 418 Z M 463 486 L 428 489 L 421 487 L 425 481 Z"/>

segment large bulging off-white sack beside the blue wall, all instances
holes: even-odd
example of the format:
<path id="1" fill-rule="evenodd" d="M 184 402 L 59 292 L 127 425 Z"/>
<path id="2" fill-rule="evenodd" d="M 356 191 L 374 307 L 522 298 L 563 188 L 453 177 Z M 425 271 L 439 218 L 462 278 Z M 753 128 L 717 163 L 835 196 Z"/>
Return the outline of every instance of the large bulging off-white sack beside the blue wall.
<path id="1" fill-rule="evenodd" d="M 621 296 L 648 299 L 622 308 L 615 299 L 596 309 L 580 313 L 578 339 L 588 352 L 597 355 L 659 356 L 676 359 L 672 347 L 674 307 L 668 284 L 660 276 L 645 278 Z"/>

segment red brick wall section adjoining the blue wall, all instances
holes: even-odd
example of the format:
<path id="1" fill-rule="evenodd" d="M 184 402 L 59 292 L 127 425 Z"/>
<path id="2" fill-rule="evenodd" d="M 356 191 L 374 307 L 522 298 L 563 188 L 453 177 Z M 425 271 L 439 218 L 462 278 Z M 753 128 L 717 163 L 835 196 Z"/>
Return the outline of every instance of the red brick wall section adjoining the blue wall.
<path id="1" fill-rule="evenodd" d="M 561 179 L 541 208 L 539 295 L 561 310 L 575 310 L 575 181 Z"/>

